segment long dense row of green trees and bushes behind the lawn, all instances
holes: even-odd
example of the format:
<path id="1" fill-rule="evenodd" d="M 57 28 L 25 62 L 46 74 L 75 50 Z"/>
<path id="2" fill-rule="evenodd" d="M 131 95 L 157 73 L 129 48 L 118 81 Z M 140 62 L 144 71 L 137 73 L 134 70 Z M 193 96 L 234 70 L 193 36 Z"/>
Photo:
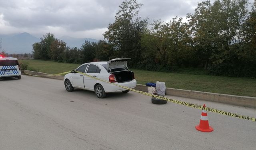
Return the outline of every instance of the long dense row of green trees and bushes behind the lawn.
<path id="1" fill-rule="evenodd" d="M 136 0 L 122 2 L 103 34 L 108 42 L 69 48 L 48 33 L 33 44 L 34 58 L 82 64 L 130 57 L 129 66 L 144 70 L 194 67 L 218 76 L 256 77 L 256 2 L 249 11 L 248 0 L 208 0 L 187 15 L 188 22 L 175 17 L 150 28 L 148 18 L 137 17 L 141 6 Z"/>

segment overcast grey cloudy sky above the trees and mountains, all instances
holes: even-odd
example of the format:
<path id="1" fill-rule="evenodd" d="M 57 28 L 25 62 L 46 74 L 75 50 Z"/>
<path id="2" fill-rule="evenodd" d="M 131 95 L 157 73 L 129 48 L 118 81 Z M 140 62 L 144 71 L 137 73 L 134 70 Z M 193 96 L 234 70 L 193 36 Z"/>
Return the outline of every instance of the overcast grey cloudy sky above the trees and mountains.
<path id="1" fill-rule="evenodd" d="M 142 18 L 186 18 L 203 0 L 137 0 Z M 213 1 L 213 0 L 212 0 Z M 253 2 L 253 0 L 249 0 Z M 0 34 L 28 32 L 102 40 L 122 0 L 0 0 Z"/>

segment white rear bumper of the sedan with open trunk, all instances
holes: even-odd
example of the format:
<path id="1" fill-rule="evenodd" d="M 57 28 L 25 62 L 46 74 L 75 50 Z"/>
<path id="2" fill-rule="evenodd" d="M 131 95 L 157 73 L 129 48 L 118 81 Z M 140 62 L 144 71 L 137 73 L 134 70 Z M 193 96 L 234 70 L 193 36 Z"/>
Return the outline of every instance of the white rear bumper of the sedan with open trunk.
<path id="1" fill-rule="evenodd" d="M 135 88 L 136 84 L 137 84 L 137 81 L 134 79 L 134 80 L 129 81 L 129 82 L 124 82 L 124 83 L 117 83 L 116 82 L 114 84 L 125 86 L 127 88 Z M 116 85 L 113 85 L 113 84 L 110 84 L 110 83 L 106 83 L 106 82 L 102 86 L 103 86 L 103 88 L 104 88 L 106 93 L 109 93 L 109 92 L 122 92 L 122 91 L 127 90 L 126 88 L 121 88 L 119 86 L 116 86 Z"/>

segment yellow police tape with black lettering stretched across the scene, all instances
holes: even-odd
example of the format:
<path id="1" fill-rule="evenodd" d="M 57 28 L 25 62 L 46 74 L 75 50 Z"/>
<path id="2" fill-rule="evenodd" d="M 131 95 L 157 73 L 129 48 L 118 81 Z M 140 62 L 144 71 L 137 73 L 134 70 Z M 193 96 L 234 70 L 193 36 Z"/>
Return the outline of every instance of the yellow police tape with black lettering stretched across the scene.
<path id="1" fill-rule="evenodd" d="M 60 75 L 60 74 L 67 74 L 69 73 L 70 71 L 68 72 L 63 72 L 63 73 L 59 73 L 59 74 L 49 74 L 49 75 L 44 75 L 44 76 L 55 76 L 55 75 Z M 100 81 L 103 81 L 103 82 L 106 82 L 106 83 L 109 83 L 109 84 L 113 84 L 115 86 L 119 86 L 121 88 L 125 88 L 127 90 L 130 90 L 130 91 L 133 91 L 133 92 L 137 92 L 137 93 L 140 93 L 140 94 L 144 94 L 144 95 L 147 95 L 147 96 L 151 96 L 151 97 L 154 97 L 154 98 L 159 98 L 161 100 L 167 100 L 169 102 L 173 102 L 173 103 L 176 103 L 176 104 L 180 104 L 180 105 L 184 105 L 184 106 L 188 106 L 188 107 L 191 107 L 191 108 L 197 108 L 197 109 L 200 109 L 200 110 L 206 110 L 208 112 L 214 112 L 214 113 L 217 113 L 217 114 L 222 114 L 222 115 L 226 115 L 226 116 L 231 116 L 231 117 L 235 117 L 235 118 L 240 118 L 240 119 L 244 119 L 244 120 L 250 120 L 250 121 L 254 121 L 256 122 L 256 118 L 253 118 L 253 117 L 249 117 L 249 116 L 244 116 L 244 115 L 240 115 L 240 114 L 235 114 L 235 113 L 232 113 L 232 112 L 226 112 L 226 111 L 223 111 L 223 110 L 218 110 L 218 109 L 214 109 L 214 108 L 210 108 L 210 107 L 204 107 L 202 105 L 198 105 L 198 104 L 192 104 L 192 103 L 188 103 L 188 102 L 183 102 L 183 101 L 180 101 L 180 100 L 174 100 L 174 99 L 171 99 L 171 98 L 166 98 L 164 96 L 158 96 L 158 95 L 154 95 L 154 94 L 150 94 L 150 93 L 147 93 L 147 92 L 143 92 L 143 91 L 140 91 L 140 90 L 135 90 L 133 88 L 128 88 L 128 87 L 125 87 L 125 86 L 121 86 L 121 85 L 118 85 L 118 84 L 115 84 L 115 83 L 111 83 L 111 82 L 108 82 L 108 81 L 105 81 L 105 80 L 102 80 L 100 78 L 96 78 L 94 76 L 90 76 L 88 74 L 85 74 L 83 72 L 79 72 L 79 71 L 76 71 L 75 72 L 78 72 L 80 74 L 83 74 L 85 76 L 88 76 L 90 78 L 94 78 L 96 80 L 100 80 Z M 28 73 L 26 73 L 28 74 Z M 39 75 L 32 75 L 32 74 L 28 74 L 28 75 L 31 75 L 31 76 L 38 76 L 40 77 Z M 42 76 L 43 77 L 43 76 Z"/>

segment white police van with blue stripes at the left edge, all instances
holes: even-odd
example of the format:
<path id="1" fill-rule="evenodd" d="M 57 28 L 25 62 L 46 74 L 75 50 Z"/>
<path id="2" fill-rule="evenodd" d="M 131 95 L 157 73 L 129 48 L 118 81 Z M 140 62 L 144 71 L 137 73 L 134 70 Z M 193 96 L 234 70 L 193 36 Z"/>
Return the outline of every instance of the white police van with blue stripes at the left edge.
<path id="1" fill-rule="evenodd" d="M 20 64 L 17 58 L 4 57 L 0 55 L 0 78 L 21 78 Z"/>

